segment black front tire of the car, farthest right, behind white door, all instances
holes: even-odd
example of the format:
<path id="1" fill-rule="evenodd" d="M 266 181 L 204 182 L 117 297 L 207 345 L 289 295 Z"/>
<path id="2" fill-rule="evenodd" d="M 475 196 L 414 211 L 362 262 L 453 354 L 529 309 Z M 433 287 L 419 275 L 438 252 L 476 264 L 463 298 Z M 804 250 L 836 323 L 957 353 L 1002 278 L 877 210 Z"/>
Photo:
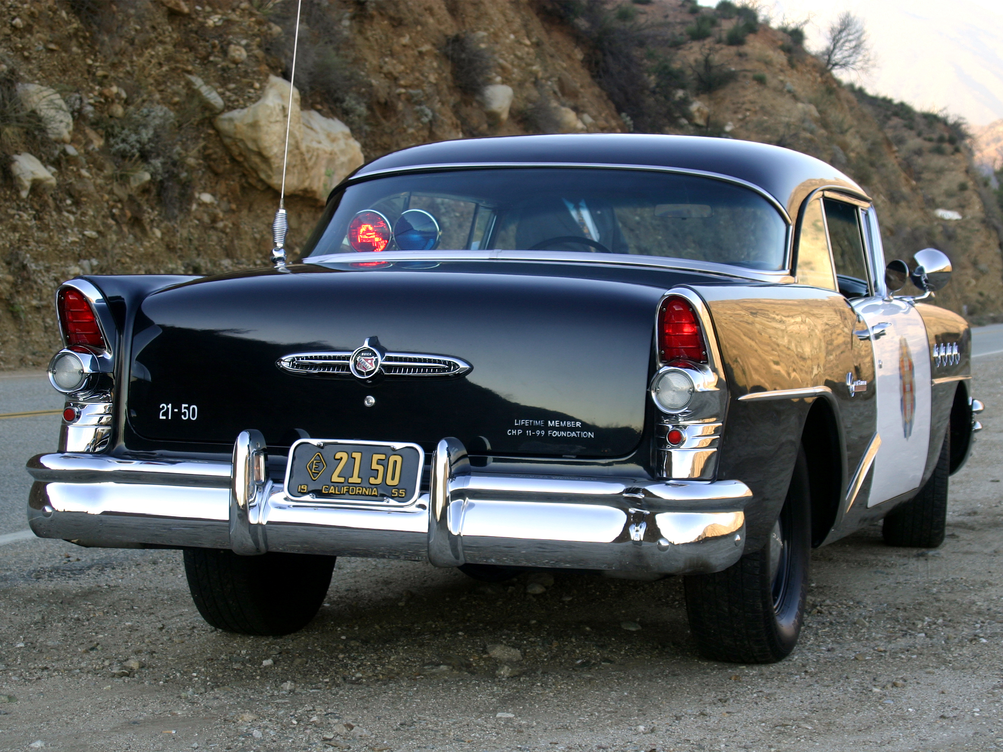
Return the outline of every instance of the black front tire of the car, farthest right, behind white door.
<path id="1" fill-rule="evenodd" d="M 916 497 L 899 504 L 882 525 L 882 536 L 889 545 L 913 548 L 936 548 L 944 542 L 947 531 L 947 496 L 951 475 L 951 431 L 944 434 L 944 445 L 933 474 Z"/>

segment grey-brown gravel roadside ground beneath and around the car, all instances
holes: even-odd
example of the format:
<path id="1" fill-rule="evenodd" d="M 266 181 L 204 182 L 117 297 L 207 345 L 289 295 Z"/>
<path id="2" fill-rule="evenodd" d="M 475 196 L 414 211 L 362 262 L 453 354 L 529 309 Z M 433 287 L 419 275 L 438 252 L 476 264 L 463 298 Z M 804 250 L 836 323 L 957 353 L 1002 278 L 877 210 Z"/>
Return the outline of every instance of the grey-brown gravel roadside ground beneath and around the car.
<path id="1" fill-rule="evenodd" d="M 260 639 L 200 619 L 178 551 L 28 540 L 0 546 L 0 749 L 1003 748 L 1003 355 L 975 363 L 947 541 L 815 551 L 782 663 L 701 660 L 678 578 L 345 558 L 306 630 Z"/>

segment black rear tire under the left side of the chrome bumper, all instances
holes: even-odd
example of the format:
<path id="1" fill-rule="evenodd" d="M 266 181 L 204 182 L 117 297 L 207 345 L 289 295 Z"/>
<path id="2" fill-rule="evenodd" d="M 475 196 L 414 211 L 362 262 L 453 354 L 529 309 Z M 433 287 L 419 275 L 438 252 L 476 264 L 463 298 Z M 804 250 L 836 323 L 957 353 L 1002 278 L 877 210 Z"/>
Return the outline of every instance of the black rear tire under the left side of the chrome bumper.
<path id="1" fill-rule="evenodd" d="M 185 549 L 185 574 L 202 618 L 238 635 L 288 635 L 306 627 L 324 602 L 334 561 L 307 553 Z"/>

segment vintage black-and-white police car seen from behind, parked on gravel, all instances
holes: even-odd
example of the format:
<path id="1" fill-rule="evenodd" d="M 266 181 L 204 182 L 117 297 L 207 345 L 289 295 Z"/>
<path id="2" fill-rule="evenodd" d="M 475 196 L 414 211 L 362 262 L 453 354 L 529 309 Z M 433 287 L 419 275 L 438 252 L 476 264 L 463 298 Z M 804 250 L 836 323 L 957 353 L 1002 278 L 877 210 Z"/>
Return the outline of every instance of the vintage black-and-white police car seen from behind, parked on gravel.
<path id="1" fill-rule="evenodd" d="M 818 281 L 802 217 L 822 190 L 825 227 L 862 228 L 857 277 L 837 260 Z M 868 211 L 831 167 L 733 141 L 388 155 L 335 190 L 302 264 L 60 289 L 67 410 L 60 451 L 29 462 L 31 526 L 183 547 L 203 616 L 248 634 L 306 624 L 337 555 L 686 575 L 707 655 L 777 660 L 810 545 L 917 496 L 978 409 L 947 315 L 960 345 L 950 395 L 919 391 L 916 477 L 872 493 Z"/>

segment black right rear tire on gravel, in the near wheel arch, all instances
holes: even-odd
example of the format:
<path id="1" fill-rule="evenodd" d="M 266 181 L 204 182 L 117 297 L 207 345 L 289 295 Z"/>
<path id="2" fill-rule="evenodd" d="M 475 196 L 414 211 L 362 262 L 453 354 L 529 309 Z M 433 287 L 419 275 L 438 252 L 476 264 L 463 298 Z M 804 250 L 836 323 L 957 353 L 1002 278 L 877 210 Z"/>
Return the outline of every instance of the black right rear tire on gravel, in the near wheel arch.
<path id="1" fill-rule="evenodd" d="M 769 542 L 724 572 L 683 580 L 700 654 L 746 664 L 786 658 L 801 630 L 810 557 L 811 498 L 801 448 Z"/>

